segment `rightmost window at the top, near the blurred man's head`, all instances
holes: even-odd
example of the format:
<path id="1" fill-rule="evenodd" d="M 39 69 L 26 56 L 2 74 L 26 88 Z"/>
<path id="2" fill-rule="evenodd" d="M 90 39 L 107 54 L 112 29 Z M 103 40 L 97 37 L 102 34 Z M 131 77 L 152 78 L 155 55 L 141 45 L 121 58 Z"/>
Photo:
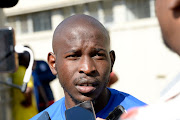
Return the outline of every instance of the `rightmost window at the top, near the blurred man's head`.
<path id="1" fill-rule="evenodd" d="M 150 17 L 150 0 L 125 0 L 127 20 Z"/>

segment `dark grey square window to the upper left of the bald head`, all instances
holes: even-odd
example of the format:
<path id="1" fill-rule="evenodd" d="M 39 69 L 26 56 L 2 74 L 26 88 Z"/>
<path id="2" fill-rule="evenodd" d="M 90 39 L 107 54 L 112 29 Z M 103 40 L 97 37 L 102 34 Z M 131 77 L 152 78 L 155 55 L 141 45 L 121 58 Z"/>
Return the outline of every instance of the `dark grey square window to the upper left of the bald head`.
<path id="1" fill-rule="evenodd" d="M 44 31 L 51 30 L 51 13 L 48 12 L 40 12 L 32 15 L 33 19 L 33 31 Z"/>

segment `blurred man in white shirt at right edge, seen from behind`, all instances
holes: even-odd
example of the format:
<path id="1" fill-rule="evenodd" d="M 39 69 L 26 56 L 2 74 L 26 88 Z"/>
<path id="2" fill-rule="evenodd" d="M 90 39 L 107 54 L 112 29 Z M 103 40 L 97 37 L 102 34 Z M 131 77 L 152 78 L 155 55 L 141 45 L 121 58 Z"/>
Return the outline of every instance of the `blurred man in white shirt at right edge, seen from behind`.
<path id="1" fill-rule="evenodd" d="M 180 0 L 156 0 L 156 14 L 164 43 L 180 55 Z M 132 109 L 121 120 L 180 120 L 180 79 L 171 83 L 163 102 Z"/>

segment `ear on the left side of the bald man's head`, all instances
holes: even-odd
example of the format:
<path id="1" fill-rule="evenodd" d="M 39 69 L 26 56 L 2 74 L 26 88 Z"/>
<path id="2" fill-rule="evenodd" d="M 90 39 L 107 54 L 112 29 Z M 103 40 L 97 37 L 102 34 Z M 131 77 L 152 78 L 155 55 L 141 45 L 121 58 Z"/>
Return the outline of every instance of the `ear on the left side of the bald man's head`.
<path id="1" fill-rule="evenodd" d="M 50 52 L 48 54 L 48 58 L 47 58 L 49 67 L 51 69 L 51 72 L 53 73 L 53 75 L 57 75 L 57 70 L 56 70 L 56 56 L 54 55 L 54 53 Z"/>

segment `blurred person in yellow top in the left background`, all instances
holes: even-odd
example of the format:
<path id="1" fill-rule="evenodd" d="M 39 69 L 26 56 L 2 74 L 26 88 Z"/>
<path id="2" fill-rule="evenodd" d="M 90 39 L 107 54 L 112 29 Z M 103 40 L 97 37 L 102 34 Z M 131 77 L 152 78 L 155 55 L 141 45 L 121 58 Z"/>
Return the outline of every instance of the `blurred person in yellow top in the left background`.
<path id="1" fill-rule="evenodd" d="M 12 75 L 13 83 L 22 85 L 25 71 L 29 65 L 30 55 L 28 52 L 19 53 L 19 67 Z M 12 114 L 13 120 L 28 120 L 36 115 L 37 106 L 33 94 L 33 78 L 27 84 L 25 93 L 19 89 L 12 89 Z"/>

